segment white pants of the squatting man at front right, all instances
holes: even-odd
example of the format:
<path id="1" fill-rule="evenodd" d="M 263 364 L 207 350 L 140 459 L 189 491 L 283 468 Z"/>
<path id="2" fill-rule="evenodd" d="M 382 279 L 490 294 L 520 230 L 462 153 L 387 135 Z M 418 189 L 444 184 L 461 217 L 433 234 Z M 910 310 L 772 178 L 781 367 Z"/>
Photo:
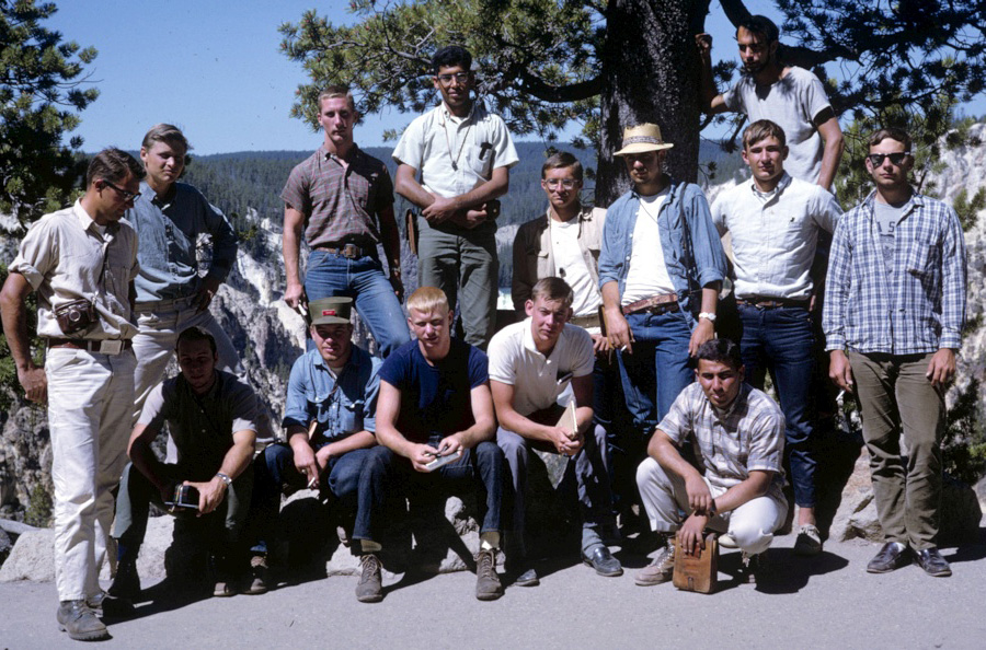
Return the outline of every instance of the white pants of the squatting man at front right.
<path id="1" fill-rule="evenodd" d="M 703 479 L 713 499 L 726 491 L 710 484 L 708 478 Z M 685 479 L 665 472 L 654 459 L 646 459 L 637 468 L 637 486 L 651 520 L 651 530 L 677 532 L 685 518 L 691 514 Z M 770 547 L 773 531 L 784 523 L 787 514 L 787 500 L 768 494 L 750 499 L 735 510 L 716 514 L 709 520 L 709 527 L 720 533 L 729 532 L 741 550 L 756 555 Z"/>

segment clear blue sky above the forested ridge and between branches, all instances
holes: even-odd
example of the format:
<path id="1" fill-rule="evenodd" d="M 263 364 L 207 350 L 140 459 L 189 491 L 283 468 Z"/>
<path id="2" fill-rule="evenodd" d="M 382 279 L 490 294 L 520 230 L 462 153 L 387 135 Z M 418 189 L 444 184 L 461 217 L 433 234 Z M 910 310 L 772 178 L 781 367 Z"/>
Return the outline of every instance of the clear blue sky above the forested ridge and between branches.
<path id="1" fill-rule="evenodd" d="M 198 154 L 311 150 L 321 137 L 289 117 L 307 81 L 280 54 L 277 27 L 317 8 L 334 24 L 353 21 L 348 1 L 330 0 L 61 0 L 48 21 L 66 39 L 99 50 L 89 67 L 100 97 L 73 132 L 85 151 L 136 149 L 157 123 L 177 125 Z M 759 8 L 758 8 L 759 9 Z M 773 15 L 772 18 L 777 18 Z M 735 54 L 733 30 L 712 2 L 707 28 L 714 57 Z M 356 140 L 383 144 L 382 131 L 413 116 L 366 116 Z"/>

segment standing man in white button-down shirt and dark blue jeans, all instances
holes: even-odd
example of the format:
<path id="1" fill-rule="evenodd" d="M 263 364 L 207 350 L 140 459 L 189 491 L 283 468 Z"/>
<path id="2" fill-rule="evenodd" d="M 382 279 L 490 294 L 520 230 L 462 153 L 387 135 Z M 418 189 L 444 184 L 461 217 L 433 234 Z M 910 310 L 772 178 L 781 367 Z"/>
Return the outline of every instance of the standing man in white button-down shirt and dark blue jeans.
<path id="1" fill-rule="evenodd" d="M 746 381 L 764 390 L 766 372 L 784 411 L 787 443 L 798 504 L 794 553 L 817 555 L 822 534 L 815 521 L 817 415 L 812 378 L 813 305 L 824 265 L 816 244 L 842 213 L 835 196 L 786 171 L 784 131 L 761 119 L 743 132 L 743 162 L 753 179 L 727 189 L 712 204 L 719 234 L 733 246 L 733 292 L 740 310 Z M 822 258 L 824 262 L 824 257 Z M 821 297 L 819 297 L 821 298 Z"/>

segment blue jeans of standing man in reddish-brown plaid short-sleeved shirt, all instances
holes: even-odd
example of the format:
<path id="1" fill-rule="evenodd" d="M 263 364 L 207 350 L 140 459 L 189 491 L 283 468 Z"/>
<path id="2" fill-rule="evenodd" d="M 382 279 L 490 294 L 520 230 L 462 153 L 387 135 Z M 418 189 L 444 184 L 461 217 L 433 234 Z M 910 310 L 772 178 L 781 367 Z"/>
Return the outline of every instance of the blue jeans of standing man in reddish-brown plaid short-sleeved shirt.
<path id="1" fill-rule="evenodd" d="M 385 359 L 411 340 L 401 303 L 376 257 L 349 259 L 325 251 L 312 251 L 305 274 L 305 293 L 309 301 L 352 298 Z"/>

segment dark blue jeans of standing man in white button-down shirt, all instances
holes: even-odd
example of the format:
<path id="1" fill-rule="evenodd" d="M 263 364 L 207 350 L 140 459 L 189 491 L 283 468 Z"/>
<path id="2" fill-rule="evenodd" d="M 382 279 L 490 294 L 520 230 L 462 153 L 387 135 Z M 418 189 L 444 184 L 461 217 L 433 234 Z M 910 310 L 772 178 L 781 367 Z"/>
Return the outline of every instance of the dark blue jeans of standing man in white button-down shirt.
<path id="1" fill-rule="evenodd" d="M 784 413 L 784 457 L 791 467 L 794 502 L 800 508 L 813 508 L 817 460 L 812 317 L 804 307 L 758 309 L 741 304 L 740 322 L 746 382 L 763 388 L 766 372 L 770 372 Z"/>

